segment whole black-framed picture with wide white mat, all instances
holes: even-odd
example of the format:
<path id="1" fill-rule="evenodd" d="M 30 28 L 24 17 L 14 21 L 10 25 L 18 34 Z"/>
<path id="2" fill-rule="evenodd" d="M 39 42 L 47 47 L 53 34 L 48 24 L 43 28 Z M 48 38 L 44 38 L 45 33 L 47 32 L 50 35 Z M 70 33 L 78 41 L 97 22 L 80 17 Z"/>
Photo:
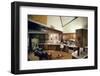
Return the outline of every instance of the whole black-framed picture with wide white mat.
<path id="1" fill-rule="evenodd" d="M 97 7 L 12 2 L 11 72 L 97 69 Z"/>

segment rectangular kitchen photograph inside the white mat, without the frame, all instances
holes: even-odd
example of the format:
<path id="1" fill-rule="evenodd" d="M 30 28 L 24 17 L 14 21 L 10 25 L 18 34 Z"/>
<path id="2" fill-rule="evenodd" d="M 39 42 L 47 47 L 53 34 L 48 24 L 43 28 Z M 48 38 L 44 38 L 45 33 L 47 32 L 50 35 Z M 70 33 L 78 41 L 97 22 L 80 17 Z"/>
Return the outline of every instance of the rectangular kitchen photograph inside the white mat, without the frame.
<path id="1" fill-rule="evenodd" d="M 28 15 L 28 61 L 88 58 L 88 18 Z"/>

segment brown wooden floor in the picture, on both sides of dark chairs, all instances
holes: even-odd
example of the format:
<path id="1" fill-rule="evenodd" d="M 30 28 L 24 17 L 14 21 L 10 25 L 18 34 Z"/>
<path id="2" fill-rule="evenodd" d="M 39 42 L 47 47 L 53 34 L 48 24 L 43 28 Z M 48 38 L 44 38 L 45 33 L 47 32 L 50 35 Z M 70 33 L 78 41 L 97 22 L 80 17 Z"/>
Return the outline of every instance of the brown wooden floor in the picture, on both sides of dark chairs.
<path id="1" fill-rule="evenodd" d="M 47 50 L 49 60 L 57 60 L 57 59 L 72 59 L 71 53 L 57 51 L 57 50 Z M 28 54 L 28 59 L 30 61 L 39 60 L 39 57 L 34 55 L 33 53 Z"/>

